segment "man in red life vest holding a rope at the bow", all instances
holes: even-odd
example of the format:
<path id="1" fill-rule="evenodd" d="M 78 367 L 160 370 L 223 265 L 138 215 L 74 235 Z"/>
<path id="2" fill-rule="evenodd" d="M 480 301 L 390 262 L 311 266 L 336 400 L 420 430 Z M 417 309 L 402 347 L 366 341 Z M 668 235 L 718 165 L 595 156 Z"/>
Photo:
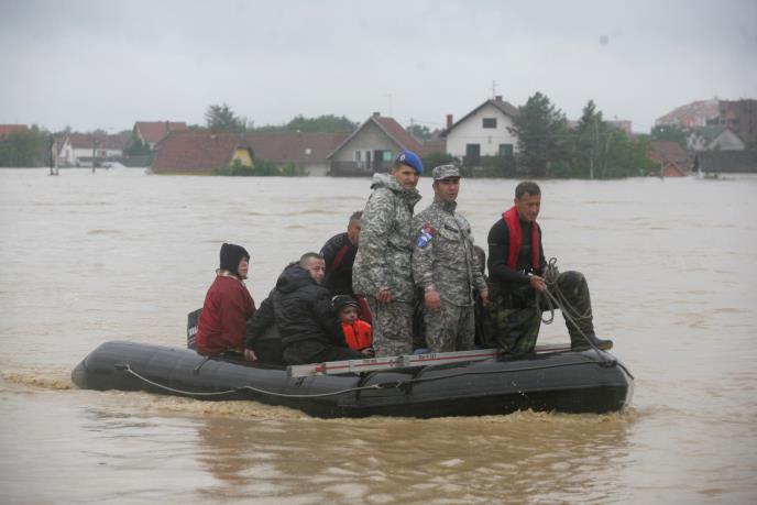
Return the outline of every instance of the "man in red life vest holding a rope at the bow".
<path id="1" fill-rule="evenodd" d="M 489 232 L 489 276 L 493 293 L 487 314 L 500 348 L 508 354 L 534 351 L 541 325 L 536 297 L 549 290 L 555 295 L 560 292 L 572 307 L 570 315 L 563 310 L 571 349 L 585 350 L 592 344 L 602 350 L 612 349 L 612 340 L 597 339 L 594 334 L 589 286 L 583 274 L 563 272 L 547 284 L 541 228 L 536 222 L 540 207 L 539 186 L 520 183 L 515 188 L 514 206 Z"/>

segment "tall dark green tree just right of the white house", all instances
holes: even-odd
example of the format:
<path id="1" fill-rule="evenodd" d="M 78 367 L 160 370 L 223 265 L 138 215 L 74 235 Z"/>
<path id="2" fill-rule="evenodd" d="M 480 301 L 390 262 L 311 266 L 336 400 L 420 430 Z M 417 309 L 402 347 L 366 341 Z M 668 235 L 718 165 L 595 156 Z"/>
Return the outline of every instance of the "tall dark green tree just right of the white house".
<path id="1" fill-rule="evenodd" d="M 528 176 L 563 173 L 568 165 L 568 121 L 547 96 L 536 92 L 520 107 L 509 132 L 518 139 L 517 163 Z"/>

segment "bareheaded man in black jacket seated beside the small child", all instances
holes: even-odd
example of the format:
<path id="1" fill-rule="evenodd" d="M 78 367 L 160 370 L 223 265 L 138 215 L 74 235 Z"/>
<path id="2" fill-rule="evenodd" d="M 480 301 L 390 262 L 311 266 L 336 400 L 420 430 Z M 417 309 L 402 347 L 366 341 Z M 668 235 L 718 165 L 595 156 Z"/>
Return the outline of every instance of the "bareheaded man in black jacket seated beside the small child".
<path id="1" fill-rule="evenodd" d="M 325 274 L 326 264 L 320 254 L 305 253 L 299 262 L 284 268 L 268 295 L 287 364 L 363 358 L 347 347 L 337 312 L 331 306 L 331 295 L 321 286 Z M 265 314 L 260 317 L 263 316 Z M 254 337 L 248 339 L 245 348 L 248 360 L 259 358 Z"/>

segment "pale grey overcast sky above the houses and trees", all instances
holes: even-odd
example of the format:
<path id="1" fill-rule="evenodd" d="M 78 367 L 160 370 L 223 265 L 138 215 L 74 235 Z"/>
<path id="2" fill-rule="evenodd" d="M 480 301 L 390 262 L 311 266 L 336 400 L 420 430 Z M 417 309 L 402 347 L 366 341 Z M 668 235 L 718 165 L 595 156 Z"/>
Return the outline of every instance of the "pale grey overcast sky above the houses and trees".
<path id="1" fill-rule="evenodd" d="M 429 128 L 495 92 L 648 131 L 693 100 L 757 98 L 757 1 L 0 0 L 0 123 L 256 125 L 373 111 Z"/>

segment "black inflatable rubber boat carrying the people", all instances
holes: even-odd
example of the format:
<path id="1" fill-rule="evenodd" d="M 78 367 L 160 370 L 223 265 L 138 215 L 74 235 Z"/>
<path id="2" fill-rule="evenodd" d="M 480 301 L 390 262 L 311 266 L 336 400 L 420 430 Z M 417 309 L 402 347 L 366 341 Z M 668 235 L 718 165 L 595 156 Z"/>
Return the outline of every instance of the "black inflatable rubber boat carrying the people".
<path id="1" fill-rule="evenodd" d="M 255 400 L 314 417 L 610 413 L 630 403 L 634 378 L 612 354 L 540 347 L 525 358 L 494 350 L 288 367 L 207 359 L 190 349 L 111 341 L 72 372 L 88 389 Z"/>

